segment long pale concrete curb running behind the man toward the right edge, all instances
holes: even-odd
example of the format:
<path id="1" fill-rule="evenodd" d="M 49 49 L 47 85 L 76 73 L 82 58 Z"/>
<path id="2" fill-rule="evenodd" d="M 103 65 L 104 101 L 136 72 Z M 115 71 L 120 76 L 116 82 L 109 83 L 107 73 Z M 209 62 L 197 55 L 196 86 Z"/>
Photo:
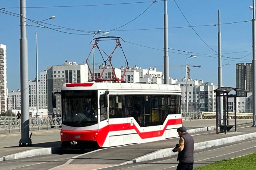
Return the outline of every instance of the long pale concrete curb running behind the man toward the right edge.
<path id="1" fill-rule="evenodd" d="M 239 141 L 250 139 L 250 138 L 256 138 L 256 132 L 250 133 L 250 134 L 243 134 L 243 135 L 238 135 L 238 136 L 231 136 L 228 138 L 221 138 L 221 139 L 196 143 L 196 144 L 194 144 L 194 148 L 195 148 L 194 150 L 202 150 L 202 149 L 210 148 L 213 146 L 220 146 L 220 145 L 229 144 L 229 143 L 233 143 L 233 142 L 239 142 Z M 148 160 L 154 160 L 154 159 L 164 158 L 164 157 L 168 157 L 168 156 L 178 155 L 178 152 L 175 152 L 175 153 L 172 152 L 173 148 L 166 148 L 166 149 L 158 150 L 156 152 L 136 158 L 132 161 L 127 161 L 126 163 L 132 164 L 132 163 L 137 163 L 137 162 L 144 162 L 144 161 L 148 161 Z"/>

